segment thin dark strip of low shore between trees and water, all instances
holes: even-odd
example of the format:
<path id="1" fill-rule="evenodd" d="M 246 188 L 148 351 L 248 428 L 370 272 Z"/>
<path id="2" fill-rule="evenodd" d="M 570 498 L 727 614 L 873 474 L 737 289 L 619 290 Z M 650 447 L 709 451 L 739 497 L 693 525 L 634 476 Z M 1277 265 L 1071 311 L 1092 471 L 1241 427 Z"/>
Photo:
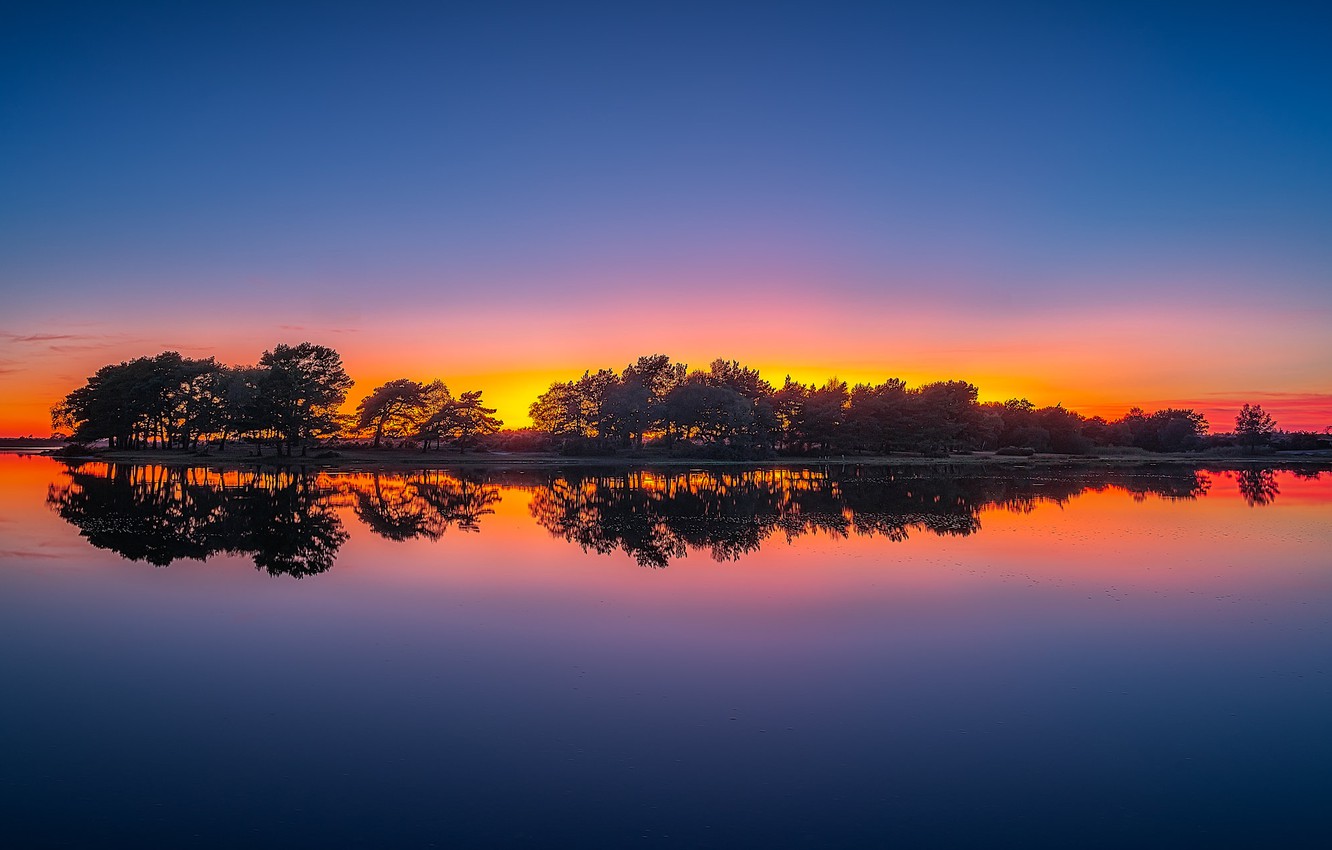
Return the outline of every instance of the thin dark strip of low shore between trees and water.
<path id="1" fill-rule="evenodd" d="M 7 449 L 0 448 L 0 452 Z M 13 449 L 8 449 L 13 450 Z M 329 450 L 321 449 L 306 457 L 298 454 L 286 457 L 264 454 L 256 457 L 248 449 L 228 452 L 185 452 L 178 449 L 144 449 L 133 452 L 99 452 L 88 456 L 57 456 L 35 449 L 17 450 L 21 454 L 51 457 L 71 464 L 119 462 L 153 464 L 160 466 L 216 466 L 228 469 L 320 469 L 328 472 L 404 472 L 418 469 L 457 468 L 583 468 L 583 469 L 626 469 L 626 468 L 813 468 L 813 466 L 884 466 L 884 468 L 938 468 L 938 466 L 990 466 L 1026 469 L 1040 468 L 1115 468 L 1142 465 L 1172 465 L 1211 469 L 1249 469 L 1277 466 L 1317 466 L 1332 470 L 1332 452 L 1283 453 L 1264 456 L 1200 457 L 1187 453 L 1163 454 L 1032 454 L 1006 456 L 992 452 L 974 452 L 948 457 L 926 457 L 911 454 L 847 454 L 830 457 L 775 457 L 766 460 L 713 460 L 697 457 L 669 457 L 663 454 L 621 454 L 606 457 L 567 457 L 554 453 L 498 453 L 450 454 L 446 452 L 416 452 L 397 449 L 353 449 L 337 450 L 329 457 Z M 324 457 L 321 457 L 324 454 Z"/>

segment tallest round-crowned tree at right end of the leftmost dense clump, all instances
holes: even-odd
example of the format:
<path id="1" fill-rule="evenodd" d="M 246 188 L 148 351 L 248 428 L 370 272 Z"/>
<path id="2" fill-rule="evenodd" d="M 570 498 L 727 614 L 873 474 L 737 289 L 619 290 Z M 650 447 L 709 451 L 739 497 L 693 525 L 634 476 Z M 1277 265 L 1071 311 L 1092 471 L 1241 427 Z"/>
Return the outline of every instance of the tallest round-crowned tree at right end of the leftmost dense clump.
<path id="1" fill-rule="evenodd" d="M 277 436 L 277 445 L 301 446 L 321 434 L 337 433 L 338 406 L 353 381 L 336 350 L 313 342 L 278 345 L 258 361 L 260 422 Z"/>

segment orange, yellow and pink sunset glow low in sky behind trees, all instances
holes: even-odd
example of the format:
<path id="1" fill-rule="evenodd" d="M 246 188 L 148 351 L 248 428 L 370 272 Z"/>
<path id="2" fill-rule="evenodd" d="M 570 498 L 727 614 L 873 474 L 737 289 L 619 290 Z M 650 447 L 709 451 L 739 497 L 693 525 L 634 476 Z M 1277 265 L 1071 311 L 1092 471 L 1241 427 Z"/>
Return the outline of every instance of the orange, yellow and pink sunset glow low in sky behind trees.
<path id="1" fill-rule="evenodd" d="M 754 302 L 717 298 L 715 309 L 627 297 L 613 305 L 472 306 L 410 316 L 336 314 L 305 325 L 256 325 L 248 314 L 218 316 L 198 336 L 172 336 L 165 316 L 79 333 L 87 341 L 47 342 L 55 333 L 0 338 L 0 436 L 45 436 L 49 408 L 108 362 L 180 350 L 226 364 L 254 362 L 277 342 L 310 340 L 341 354 L 356 380 L 348 409 L 398 377 L 442 378 L 454 392 L 481 389 L 509 428 L 529 424 L 527 408 L 554 381 L 585 369 L 621 370 L 641 354 L 665 353 L 690 368 L 739 360 L 781 386 L 838 377 L 848 384 L 898 377 L 910 385 L 960 378 L 982 401 L 1026 397 L 1086 416 L 1116 418 L 1131 406 L 1187 406 L 1229 430 L 1241 402 L 1256 401 L 1280 428 L 1332 425 L 1332 350 L 1325 316 L 1188 316 L 1106 310 L 1015 313 L 1007 317 L 940 309 L 806 304 L 794 297 Z M 497 312 L 498 310 L 498 312 Z M 161 320 L 161 321 L 151 321 Z M 1219 344 L 1255 330 L 1245 350 Z M 72 334 L 79 336 L 79 334 Z"/>

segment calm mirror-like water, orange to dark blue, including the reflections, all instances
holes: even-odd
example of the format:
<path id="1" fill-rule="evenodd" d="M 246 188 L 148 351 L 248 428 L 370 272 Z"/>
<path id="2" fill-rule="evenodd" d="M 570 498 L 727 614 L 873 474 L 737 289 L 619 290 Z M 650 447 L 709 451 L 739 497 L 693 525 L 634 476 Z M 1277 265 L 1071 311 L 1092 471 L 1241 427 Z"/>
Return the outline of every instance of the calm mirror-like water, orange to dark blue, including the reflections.
<path id="1" fill-rule="evenodd" d="M 0 845 L 1327 846 L 1332 473 L 0 454 Z"/>

